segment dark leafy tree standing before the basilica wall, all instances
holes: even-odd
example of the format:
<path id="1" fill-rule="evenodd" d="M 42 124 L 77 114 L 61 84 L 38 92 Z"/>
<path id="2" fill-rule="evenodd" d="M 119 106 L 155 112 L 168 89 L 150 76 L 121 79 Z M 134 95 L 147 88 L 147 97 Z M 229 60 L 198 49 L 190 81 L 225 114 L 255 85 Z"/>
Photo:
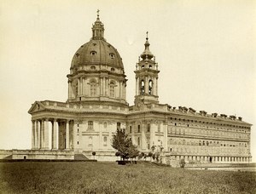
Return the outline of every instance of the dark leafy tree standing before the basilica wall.
<path id="1" fill-rule="evenodd" d="M 125 129 L 118 128 L 116 134 L 113 134 L 112 146 L 119 151 L 120 157 L 122 157 L 123 160 L 129 157 L 137 157 L 139 153 L 137 147 L 132 145 L 128 135 L 125 134 Z"/>

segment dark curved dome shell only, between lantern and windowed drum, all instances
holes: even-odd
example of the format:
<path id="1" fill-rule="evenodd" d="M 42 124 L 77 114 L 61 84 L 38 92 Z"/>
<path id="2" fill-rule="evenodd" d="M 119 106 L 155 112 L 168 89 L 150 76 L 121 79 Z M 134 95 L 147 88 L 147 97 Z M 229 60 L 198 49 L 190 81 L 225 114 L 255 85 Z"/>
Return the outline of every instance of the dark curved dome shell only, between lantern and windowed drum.
<path id="1" fill-rule="evenodd" d="M 101 39 L 91 39 L 90 42 L 84 43 L 74 54 L 71 67 L 97 64 L 124 68 L 117 49 Z"/>

